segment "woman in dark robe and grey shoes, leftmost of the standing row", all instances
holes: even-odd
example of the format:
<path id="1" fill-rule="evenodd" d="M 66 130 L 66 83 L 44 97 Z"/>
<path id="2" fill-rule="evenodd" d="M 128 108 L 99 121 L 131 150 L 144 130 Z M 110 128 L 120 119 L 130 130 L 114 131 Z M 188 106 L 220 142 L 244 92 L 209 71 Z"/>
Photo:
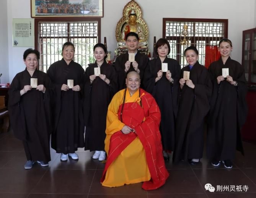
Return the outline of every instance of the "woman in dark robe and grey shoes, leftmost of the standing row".
<path id="1" fill-rule="evenodd" d="M 51 161 L 51 81 L 46 73 L 37 70 L 38 60 L 37 50 L 27 49 L 24 52 L 26 69 L 13 78 L 8 91 L 8 110 L 13 132 L 18 139 L 23 140 L 28 160 L 25 169 L 31 169 L 36 161 L 41 166 L 48 166 Z M 36 80 L 37 83 L 31 84 Z"/>

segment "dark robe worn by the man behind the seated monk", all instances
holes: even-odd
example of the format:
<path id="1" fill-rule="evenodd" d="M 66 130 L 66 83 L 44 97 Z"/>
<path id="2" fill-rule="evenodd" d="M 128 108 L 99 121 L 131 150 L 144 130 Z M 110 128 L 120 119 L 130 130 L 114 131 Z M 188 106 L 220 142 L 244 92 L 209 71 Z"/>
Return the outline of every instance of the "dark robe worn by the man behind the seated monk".
<path id="1" fill-rule="evenodd" d="M 127 60 L 129 60 L 128 52 L 126 54 L 121 54 L 116 58 L 115 69 L 118 77 L 118 91 L 126 88 L 127 73 L 129 73 L 130 71 L 135 71 L 134 68 L 132 67 L 132 63 L 130 63 L 130 69 L 127 72 L 124 71 L 124 64 L 127 62 Z M 137 54 L 135 55 L 135 61 L 139 64 L 138 68 L 140 70 L 140 88 L 143 88 L 144 86 L 142 82 L 144 71 L 145 68 L 147 67 L 149 59 L 147 55 L 137 51 Z"/>

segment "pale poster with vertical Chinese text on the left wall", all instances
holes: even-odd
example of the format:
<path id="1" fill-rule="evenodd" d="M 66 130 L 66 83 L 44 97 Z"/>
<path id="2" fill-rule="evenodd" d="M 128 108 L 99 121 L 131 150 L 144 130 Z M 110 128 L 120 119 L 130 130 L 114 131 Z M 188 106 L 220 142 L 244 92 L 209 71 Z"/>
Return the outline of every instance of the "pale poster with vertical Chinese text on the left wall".
<path id="1" fill-rule="evenodd" d="M 13 47 L 34 47 L 34 19 L 13 19 Z"/>

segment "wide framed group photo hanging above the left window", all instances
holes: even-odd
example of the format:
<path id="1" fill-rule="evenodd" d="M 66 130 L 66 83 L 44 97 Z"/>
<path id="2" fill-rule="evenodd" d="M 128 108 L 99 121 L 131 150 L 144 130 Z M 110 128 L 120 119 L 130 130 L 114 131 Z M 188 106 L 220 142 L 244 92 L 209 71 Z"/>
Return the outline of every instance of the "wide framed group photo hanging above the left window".
<path id="1" fill-rule="evenodd" d="M 103 17 L 103 0 L 31 0 L 31 18 Z"/>

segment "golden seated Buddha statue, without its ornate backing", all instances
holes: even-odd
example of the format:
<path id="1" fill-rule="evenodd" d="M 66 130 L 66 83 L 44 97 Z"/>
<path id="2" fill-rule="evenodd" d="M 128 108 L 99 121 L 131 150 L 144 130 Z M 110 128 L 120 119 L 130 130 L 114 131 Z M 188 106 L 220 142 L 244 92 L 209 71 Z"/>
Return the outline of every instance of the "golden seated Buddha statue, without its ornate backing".
<path id="1" fill-rule="evenodd" d="M 125 24 L 121 31 L 121 41 L 117 42 L 118 47 L 126 47 L 126 35 L 129 32 L 135 32 L 139 35 L 139 47 L 147 47 L 148 42 L 145 40 L 144 30 L 136 21 L 137 15 L 134 10 L 130 11 L 129 23 Z"/>

